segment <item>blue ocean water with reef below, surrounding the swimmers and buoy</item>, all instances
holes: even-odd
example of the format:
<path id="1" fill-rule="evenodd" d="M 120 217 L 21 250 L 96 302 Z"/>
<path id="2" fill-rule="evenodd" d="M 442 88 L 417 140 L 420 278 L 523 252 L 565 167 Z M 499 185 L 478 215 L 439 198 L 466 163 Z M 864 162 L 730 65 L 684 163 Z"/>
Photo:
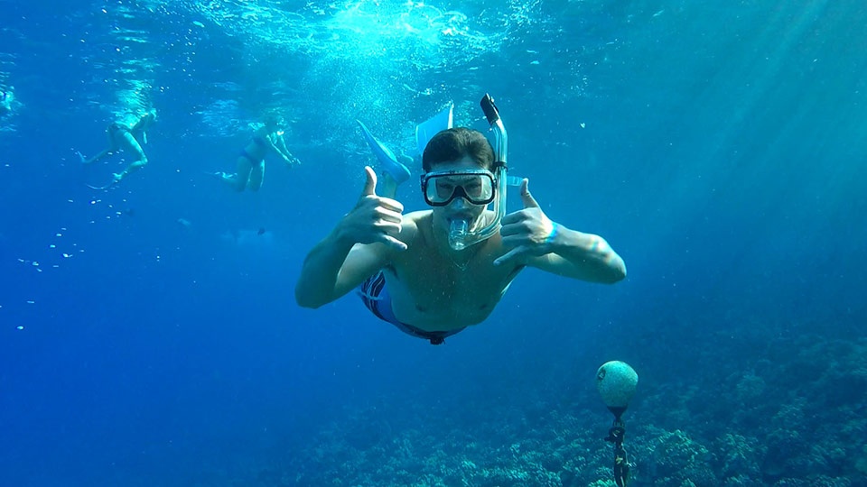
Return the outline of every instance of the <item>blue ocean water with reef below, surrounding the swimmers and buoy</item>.
<path id="1" fill-rule="evenodd" d="M 609 360 L 630 485 L 867 485 L 862 3 L 0 8 L 0 485 L 613 485 Z M 299 308 L 374 162 L 355 121 L 411 153 L 485 93 L 628 279 L 524 271 L 442 346 Z M 88 188 L 128 161 L 76 152 L 150 107 L 149 164 Z M 302 164 L 222 187 L 275 110 Z"/>

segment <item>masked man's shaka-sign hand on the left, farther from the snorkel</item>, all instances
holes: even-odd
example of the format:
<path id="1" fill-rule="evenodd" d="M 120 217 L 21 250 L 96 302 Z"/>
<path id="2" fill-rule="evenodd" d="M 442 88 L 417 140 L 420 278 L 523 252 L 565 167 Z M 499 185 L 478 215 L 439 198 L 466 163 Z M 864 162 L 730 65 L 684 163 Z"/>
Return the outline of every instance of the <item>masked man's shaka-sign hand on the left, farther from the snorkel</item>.
<path id="1" fill-rule="evenodd" d="M 364 171 L 364 190 L 358 204 L 343 217 L 341 234 L 353 243 L 384 243 L 397 251 L 406 250 L 406 243 L 397 240 L 404 206 L 396 199 L 377 196 L 377 173 L 370 166 Z"/>

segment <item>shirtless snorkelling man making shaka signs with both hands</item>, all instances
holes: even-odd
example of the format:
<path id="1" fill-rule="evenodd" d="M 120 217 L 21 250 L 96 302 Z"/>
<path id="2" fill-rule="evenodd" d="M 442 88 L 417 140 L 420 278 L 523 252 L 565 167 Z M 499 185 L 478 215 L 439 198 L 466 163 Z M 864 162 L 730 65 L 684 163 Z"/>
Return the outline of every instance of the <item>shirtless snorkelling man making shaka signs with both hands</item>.
<path id="1" fill-rule="evenodd" d="M 591 282 L 626 277 L 623 260 L 601 236 L 545 216 L 527 179 L 520 183 L 524 208 L 503 216 L 499 232 L 454 248 L 454 228 L 472 234 L 496 223 L 488 206 L 498 196 L 498 161 L 484 134 L 459 127 L 433 135 L 422 155 L 422 193 L 431 209 L 404 215 L 394 198 L 409 171 L 393 155 L 382 157 L 383 150 L 390 151 L 362 129 L 385 162 L 383 180 L 365 167 L 358 204 L 307 255 L 295 287 L 300 306 L 319 308 L 359 288 L 377 317 L 440 345 L 489 317 L 527 266 Z"/>

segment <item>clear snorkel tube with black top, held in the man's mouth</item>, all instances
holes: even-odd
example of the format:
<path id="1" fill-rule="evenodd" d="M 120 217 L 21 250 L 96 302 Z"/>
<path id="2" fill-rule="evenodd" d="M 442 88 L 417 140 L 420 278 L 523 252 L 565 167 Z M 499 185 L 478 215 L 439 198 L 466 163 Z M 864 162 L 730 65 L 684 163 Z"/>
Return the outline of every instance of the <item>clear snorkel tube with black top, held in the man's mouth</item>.
<path id="1" fill-rule="evenodd" d="M 452 220 L 452 225 L 449 226 L 449 246 L 454 250 L 463 250 L 474 243 L 480 243 L 483 240 L 489 239 L 493 234 L 499 232 L 499 221 L 506 215 L 506 188 L 508 187 L 508 179 L 506 178 L 506 156 L 508 149 L 508 135 L 506 126 L 503 124 L 503 119 L 499 117 L 499 110 L 494 105 L 494 99 L 489 94 L 482 96 L 481 110 L 485 113 L 485 118 L 488 119 L 490 130 L 494 133 L 494 180 L 496 184 L 497 198 L 494 198 L 494 217 L 488 225 L 470 230 L 470 223 L 467 220 Z"/>

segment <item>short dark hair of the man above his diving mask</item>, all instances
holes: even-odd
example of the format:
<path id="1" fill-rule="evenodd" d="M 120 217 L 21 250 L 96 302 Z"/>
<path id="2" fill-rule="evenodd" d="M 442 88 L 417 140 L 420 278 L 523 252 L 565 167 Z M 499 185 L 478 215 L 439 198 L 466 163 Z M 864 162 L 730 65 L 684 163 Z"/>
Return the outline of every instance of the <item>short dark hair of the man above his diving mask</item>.
<path id="1" fill-rule="evenodd" d="M 470 156 L 483 169 L 494 165 L 494 148 L 484 133 L 465 127 L 443 130 L 433 135 L 422 154 L 422 169 L 430 172 L 434 164 L 460 161 Z"/>

